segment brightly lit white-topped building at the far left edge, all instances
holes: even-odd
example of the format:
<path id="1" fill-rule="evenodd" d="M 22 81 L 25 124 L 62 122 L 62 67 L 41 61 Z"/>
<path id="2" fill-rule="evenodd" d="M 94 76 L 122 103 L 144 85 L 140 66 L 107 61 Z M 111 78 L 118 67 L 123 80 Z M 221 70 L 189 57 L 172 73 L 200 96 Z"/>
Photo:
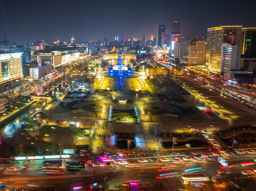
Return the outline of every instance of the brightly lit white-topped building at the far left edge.
<path id="1" fill-rule="evenodd" d="M 0 53 L 0 92 L 21 84 L 22 53 Z"/>

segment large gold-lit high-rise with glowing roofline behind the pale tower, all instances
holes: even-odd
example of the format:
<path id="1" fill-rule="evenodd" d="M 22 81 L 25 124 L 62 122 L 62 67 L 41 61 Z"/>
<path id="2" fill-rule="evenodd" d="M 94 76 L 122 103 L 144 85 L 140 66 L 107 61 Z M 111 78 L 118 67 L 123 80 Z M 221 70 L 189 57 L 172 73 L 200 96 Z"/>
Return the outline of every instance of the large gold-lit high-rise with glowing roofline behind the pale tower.
<path id="1" fill-rule="evenodd" d="M 209 69 L 221 72 L 221 47 L 223 43 L 240 44 L 242 26 L 208 28 L 205 64 Z"/>

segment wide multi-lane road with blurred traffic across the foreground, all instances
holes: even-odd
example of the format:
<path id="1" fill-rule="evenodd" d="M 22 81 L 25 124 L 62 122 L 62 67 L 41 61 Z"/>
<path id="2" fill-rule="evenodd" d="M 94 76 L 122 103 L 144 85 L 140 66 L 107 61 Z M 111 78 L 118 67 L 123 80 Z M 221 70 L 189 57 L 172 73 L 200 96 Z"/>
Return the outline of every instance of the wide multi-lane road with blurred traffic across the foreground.
<path id="1" fill-rule="evenodd" d="M 161 157 L 156 157 L 161 158 Z M 168 157 L 169 158 L 169 157 Z M 182 159 L 182 157 L 180 157 Z M 237 176 L 242 175 L 242 170 L 254 170 L 256 169 L 255 164 L 253 166 L 242 167 L 242 162 L 253 161 L 256 158 L 254 154 L 246 155 L 233 155 L 231 157 L 225 157 L 229 164 L 233 164 L 235 167 L 230 168 L 230 172 Z M 147 158 L 145 158 L 147 159 Z M 183 175 L 186 169 L 201 167 L 201 171 L 189 173 L 189 174 L 204 174 L 210 179 L 212 176 L 216 176 L 217 170 L 220 168 L 220 163 L 215 161 L 209 161 L 207 159 L 202 159 L 201 162 L 194 161 L 177 161 L 177 162 L 144 162 L 138 163 L 136 159 L 129 159 L 130 164 L 126 166 L 120 166 L 112 162 L 117 168 L 111 172 L 111 166 L 103 167 L 88 167 L 87 170 L 73 170 L 69 171 L 66 169 L 61 170 L 64 173 L 47 174 L 42 169 L 42 161 L 31 161 L 27 164 L 13 164 L 14 167 L 20 167 L 26 165 L 29 170 L 19 170 L 19 171 L 8 171 L 8 173 L 2 170 L 1 177 L 5 180 L 5 183 L 9 186 L 16 187 L 30 187 L 30 190 L 72 190 L 73 186 L 80 185 L 84 190 L 89 190 L 89 185 L 92 183 L 102 184 L 103 187 L 115 187 L 120 183 L 126 183 L 130 180 L 136 180 L 139 183 L 145 184 L 147 190 L 200 190 L 196 187 L 183 187 L 180 184 L 181 175 Z M 163 164 L 165 163 L 165 164 Z M 7 168 L 11 165 L 2 165 L 2 167 Z M 169 170 L 159 171 L 162 167 L 173 167 Z M 131 168 L 133 167 L 133 168 Z M 159 176 L 163 173 L 177 173 L 176 176 L 171 178 L 156 179 L 155 176 Z M 103 179 L 107 177 L 106 182 Z M 244 176 L 246 177 L 246 176 Z M 161 186 L 162 185 L 162 186 Z M 213 183 L 209 181 L 203 186 L 204 190 L 213 190 Z M 141 190 L 141 188 L 137 188 Z"/>

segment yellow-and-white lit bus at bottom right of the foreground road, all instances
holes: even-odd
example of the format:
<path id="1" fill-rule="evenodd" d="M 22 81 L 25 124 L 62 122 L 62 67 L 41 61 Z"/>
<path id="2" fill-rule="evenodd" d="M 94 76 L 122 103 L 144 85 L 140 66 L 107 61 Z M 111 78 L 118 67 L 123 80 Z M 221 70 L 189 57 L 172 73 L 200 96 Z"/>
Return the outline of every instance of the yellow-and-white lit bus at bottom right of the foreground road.
<path id="1" fill-rule="evenodd" d="M 203 181 L 209 181 L 209 177 L 206 175 L 182 175 L 181 183 L 183 186 L 196 186 L 203 184 Z"/>

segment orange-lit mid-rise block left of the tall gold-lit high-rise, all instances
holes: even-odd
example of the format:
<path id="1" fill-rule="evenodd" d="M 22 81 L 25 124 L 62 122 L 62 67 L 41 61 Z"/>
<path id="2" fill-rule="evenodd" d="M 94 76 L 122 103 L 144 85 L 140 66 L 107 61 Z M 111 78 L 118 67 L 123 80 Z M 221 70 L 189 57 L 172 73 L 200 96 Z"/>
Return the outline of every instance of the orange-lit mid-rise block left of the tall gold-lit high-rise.
<path id="1" fill-rule="evenodd" d="M 204 65 L 205 41 L 191 41 L 188 49 L 188 65 Z"/>

